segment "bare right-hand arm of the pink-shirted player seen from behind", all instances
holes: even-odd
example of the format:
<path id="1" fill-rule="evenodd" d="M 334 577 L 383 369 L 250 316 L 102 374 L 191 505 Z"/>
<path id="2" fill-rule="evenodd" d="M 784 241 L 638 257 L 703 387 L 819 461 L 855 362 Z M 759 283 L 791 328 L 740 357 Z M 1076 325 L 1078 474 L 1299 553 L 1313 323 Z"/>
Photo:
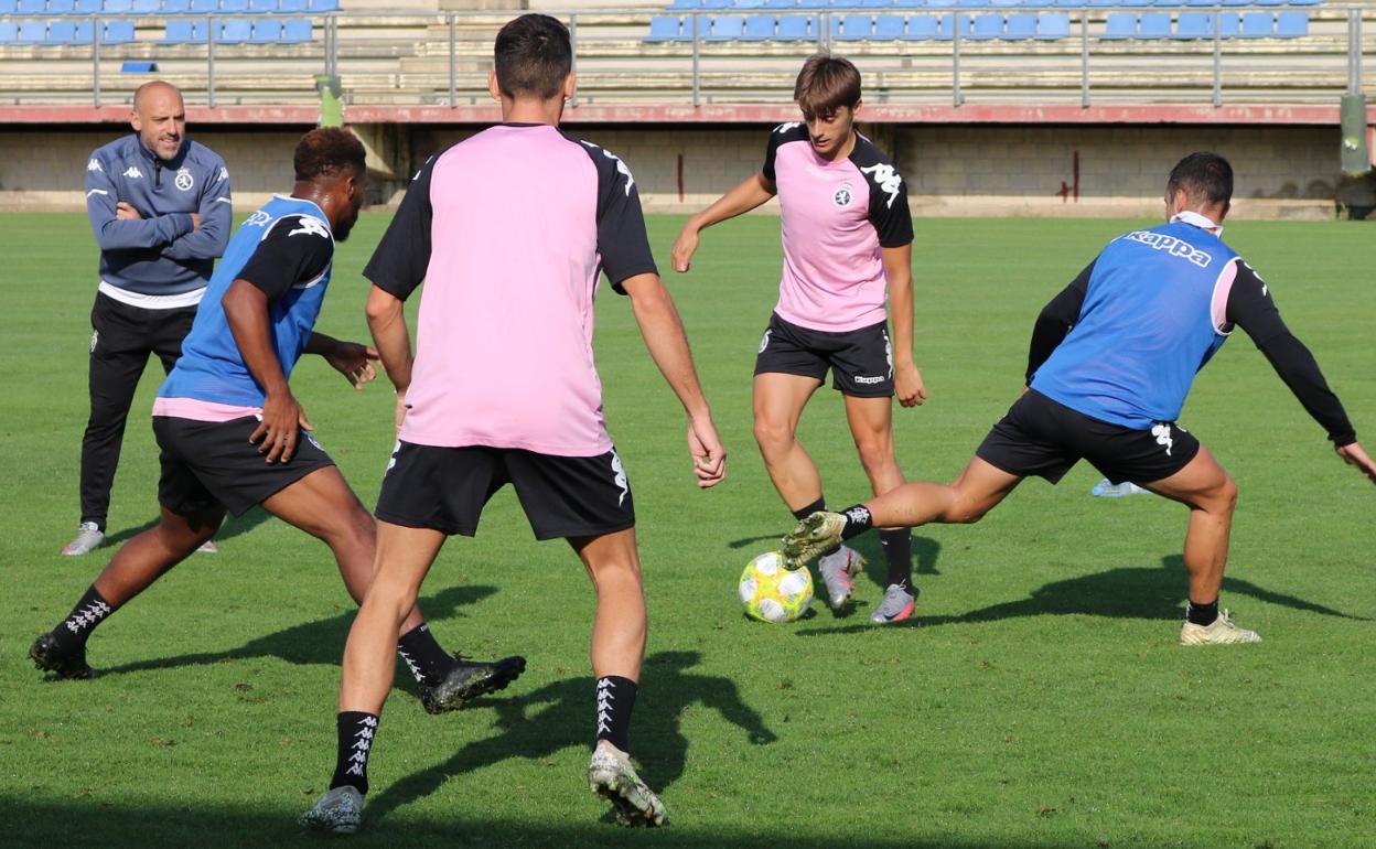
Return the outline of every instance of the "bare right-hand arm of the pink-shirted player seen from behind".
<path id="1" fill-rule="evenodd" d="M 630 296 L 630 307 L 645 338 L 649 356 L 688 413 L 688 451 L 694 458 L 698 486 L 717 486 L 727 476 L 727 449 L 717 436 L 711 410 L 698 383 L 698 370 L 688 348 L 678 310 L 658 274 L 637 274 L 621 282 Z"/>

